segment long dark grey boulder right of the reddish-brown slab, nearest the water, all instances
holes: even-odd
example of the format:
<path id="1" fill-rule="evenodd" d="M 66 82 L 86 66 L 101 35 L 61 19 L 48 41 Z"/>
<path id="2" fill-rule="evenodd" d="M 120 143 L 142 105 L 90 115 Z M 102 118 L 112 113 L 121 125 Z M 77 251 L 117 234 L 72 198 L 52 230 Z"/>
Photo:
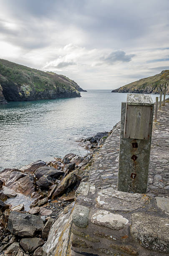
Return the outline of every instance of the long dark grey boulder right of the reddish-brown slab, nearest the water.
<path id="1" fill-rule="evenodd" d="M 43 175 L 50 176 L 51 178 L 57 178 L 61 174 L 63 174 L 62 171 L 56 170 L 55 168 L 49 166 L 40 167 L 35 172 L 35 176 L 37 179 L 40 179 L 40 177 L 42 177 Z"/>

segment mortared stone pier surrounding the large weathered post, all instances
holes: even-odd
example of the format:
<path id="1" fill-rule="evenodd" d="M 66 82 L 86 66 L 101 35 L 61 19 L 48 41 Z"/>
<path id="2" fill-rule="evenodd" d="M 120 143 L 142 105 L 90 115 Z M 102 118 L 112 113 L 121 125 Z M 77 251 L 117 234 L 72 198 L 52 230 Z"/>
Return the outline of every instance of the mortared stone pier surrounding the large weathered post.
<path id="1" fill-rule="evenodd" d="M 44 248 L 55 253 L 44 255 L 169 255 L 169 101 L 153 123 L 146 194 L 117 190 L 119 141 L 120 123 L 86 169 L 75 205 L 54 224 Z"/>

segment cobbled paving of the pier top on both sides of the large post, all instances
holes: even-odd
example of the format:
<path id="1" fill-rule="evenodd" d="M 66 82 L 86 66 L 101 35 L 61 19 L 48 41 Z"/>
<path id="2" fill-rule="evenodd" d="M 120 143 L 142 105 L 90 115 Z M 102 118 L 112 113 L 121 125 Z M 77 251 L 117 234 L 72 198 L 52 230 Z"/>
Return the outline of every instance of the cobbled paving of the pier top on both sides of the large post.
<path id="1" fill-rule="evenodd" d="M 96 190 L 117 189 L 119 140 L 120 122 L 94 155 L 88 182 L 93 183 Z M 169 103 L 158 111 L 157 123 L 153 124 L 147 194 L 169 197 Z"/>

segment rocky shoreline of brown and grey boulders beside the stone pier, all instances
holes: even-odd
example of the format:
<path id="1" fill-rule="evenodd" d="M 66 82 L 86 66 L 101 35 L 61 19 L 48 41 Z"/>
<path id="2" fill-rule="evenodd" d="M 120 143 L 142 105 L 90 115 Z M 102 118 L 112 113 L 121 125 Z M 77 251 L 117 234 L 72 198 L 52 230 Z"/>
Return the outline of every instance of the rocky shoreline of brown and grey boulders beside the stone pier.
<path id="1" fill-rule="evenodd" d="M 42 255 L 50 226 L 68 212 L 93 152 L 110 133 L 81 138 L 81 146 L 90 148 L 86 156 L 70 153 L 0 172 L 0 255 Z"/>

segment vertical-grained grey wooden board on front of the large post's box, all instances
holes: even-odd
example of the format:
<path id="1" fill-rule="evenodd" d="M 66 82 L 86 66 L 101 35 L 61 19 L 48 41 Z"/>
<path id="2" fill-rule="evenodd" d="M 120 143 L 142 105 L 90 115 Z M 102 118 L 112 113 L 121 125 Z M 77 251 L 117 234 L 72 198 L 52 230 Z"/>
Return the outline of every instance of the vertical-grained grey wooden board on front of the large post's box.
<path id="1" fill-rule="evenodd" d="M 124 138 L 148 140 L 150 137 L 153 106 L 126 104 Z"/>

